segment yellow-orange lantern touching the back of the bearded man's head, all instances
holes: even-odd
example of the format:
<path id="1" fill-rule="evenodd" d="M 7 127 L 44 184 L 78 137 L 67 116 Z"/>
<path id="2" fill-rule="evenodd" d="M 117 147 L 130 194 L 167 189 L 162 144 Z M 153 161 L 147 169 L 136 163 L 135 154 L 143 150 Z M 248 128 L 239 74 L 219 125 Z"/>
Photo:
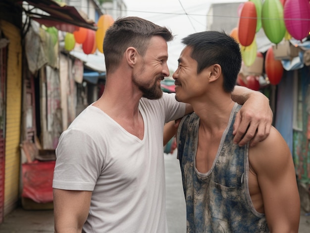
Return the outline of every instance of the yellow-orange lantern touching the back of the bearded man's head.
<path id="1" fill-rule="evenodd" d="M 103 53 L 103 39 L 106 30 L 113 24 L 114 20 L 112 16 L 108 14 L 104 14 L 100 16 L 97 27 L 98 30 L 96 31 L 96 45 L 100 52 Z"/>

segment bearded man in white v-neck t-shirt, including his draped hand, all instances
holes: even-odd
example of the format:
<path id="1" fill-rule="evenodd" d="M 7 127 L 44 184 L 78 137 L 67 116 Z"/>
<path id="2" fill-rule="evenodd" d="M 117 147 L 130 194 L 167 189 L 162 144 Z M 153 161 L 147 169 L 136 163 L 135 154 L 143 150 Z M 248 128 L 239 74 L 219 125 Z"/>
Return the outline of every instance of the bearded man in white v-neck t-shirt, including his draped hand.
<path id="1" fill-rule="evenodd" d="M 103 95 L 62 133 L 56 149 L 56 233 L 167 232 L 163 125 L 192 112 L 160 89 L 172 39 L 167 28 L 138 17 L 120 18 L 106 31 Z M 240 143 L 253 135 L 254 143 L 263 140 L 272 120 L 267 98 L 241 87 L 233 98 L 248 99 L 236 140 L 249 125 Z"/>

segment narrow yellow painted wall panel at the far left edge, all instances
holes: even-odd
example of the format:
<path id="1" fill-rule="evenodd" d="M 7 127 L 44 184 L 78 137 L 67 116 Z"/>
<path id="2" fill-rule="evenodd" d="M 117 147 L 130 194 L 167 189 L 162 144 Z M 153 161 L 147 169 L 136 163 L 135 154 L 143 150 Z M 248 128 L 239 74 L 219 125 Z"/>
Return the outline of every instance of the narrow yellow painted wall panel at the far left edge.
<path id="1" fill-rule="evenodd" d="M 22 46 L 20 30 L 7 21 L 0 20 L 0 28 L 9 39 L 6 80 L 6 129 L 4 216 L 11 212 L 19 197 L 20 178 L 20 127 L 22 94 Z"/>

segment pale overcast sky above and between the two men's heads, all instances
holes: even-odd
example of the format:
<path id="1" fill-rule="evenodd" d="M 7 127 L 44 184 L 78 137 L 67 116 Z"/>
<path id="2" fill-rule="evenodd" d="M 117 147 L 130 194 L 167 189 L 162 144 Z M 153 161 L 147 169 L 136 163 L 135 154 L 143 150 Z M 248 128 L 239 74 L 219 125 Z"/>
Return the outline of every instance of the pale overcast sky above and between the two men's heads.
<path id="1" fill-rule="evenodd" d="M 178 65 L 177 59 L 183 49 L 181 39 L 206 30 L 206 15 L 211 3 L 244 1 L 246 0 L 124 0 L 127 16 L 139 16 L 166 26 L 175 35 L 175 39 L 168 43 L 170 71 L 174 71 Z"/>

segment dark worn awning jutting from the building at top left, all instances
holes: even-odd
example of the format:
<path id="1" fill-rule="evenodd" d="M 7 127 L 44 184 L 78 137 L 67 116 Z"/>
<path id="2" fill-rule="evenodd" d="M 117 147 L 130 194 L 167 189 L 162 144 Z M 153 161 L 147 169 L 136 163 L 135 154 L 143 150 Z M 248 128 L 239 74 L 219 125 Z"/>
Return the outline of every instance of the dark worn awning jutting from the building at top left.
<path id="1" fill-rule="evenodd" d="M 26 14 L 33 20 L 44 24 L 47 27 L 54 26 L 60 31 L 73 33 L 77 27 L 88 28 L 96 31 L 95 22 L 88 19 L 87 15 L 79 12 L 75 7 L 66 5 L 63 2 L 54 0 L 25 0 L 29 5 L 34 6 L 31 9 L 25 9 Z M 16 3 L 22 4 L 23 1 L 16 0 Z M 37 13 L 36 8 L 45 11 L 48 14 Z"/>

